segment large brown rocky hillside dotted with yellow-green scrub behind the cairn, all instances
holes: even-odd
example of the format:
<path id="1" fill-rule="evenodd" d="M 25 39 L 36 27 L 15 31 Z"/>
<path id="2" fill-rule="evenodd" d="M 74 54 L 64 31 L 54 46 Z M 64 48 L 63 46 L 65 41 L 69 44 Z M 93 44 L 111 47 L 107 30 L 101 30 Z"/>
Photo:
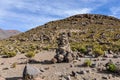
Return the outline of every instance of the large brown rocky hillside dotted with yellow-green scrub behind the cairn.
<path id="1" fill-rule="evenodd" d="M 27 53 L 55 49 L 59 34 L 66 32 L 73 51 L 86 46 L 103 51 L 120 50 L 120 19 L 99 15 L 79 14 L 66 19 L 51 21 L 25 33 L 0 41 L 1 54 L 6 52 Z"/>

